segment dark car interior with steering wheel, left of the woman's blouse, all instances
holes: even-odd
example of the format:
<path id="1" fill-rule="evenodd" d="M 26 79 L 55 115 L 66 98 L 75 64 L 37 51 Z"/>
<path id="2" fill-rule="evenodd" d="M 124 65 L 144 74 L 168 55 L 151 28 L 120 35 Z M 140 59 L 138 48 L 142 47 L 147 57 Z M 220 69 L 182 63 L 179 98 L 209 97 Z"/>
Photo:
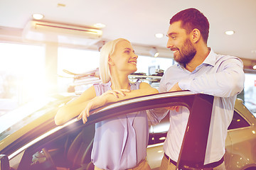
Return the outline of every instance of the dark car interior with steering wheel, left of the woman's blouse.
<path id="1" fill-rule="evenodd" d="M 19 170 L 94 169 L 90 162 L 95 124 L 75 128 L 69 132 L 60 130 L 55 137 L 46 137 L 26 149 Z M 61 134 L 63 133 L 63 134 Z"/>

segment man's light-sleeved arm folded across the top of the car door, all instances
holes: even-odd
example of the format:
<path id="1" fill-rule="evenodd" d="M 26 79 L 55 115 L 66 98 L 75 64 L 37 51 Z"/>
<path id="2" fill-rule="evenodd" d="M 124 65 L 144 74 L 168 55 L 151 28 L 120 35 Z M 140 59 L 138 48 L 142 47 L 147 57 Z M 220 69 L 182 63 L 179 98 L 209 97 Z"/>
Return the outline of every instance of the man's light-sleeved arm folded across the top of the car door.
<path id="1" fill-rule="evenodd" d="M 242 62 L 237 58 L 223 61 L 221 71 L 214 74 L 203 74 L 193 79 L 183 79 L 178 82 L 182 90 L 194 93 L 209 94 L 218 97 L 230 97 L 239 94 L 243 89 L 245 73 Z"/>

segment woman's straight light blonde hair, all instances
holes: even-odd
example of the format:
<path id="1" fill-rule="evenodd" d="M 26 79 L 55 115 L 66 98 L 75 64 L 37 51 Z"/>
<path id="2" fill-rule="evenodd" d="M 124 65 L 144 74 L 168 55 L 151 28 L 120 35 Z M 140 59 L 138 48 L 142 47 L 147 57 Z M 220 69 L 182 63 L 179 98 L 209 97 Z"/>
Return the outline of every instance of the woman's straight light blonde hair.
<path id="1" fill-rule="evenodd" d="M 107 42 L 100 50 L 100 79 L 104 84 L 112 79 L 110 74 L 110 66 L 108 64 L 109 57 L 114 54 L 117 43 L 123 40 L 129 42 L 129 40 L 124 38 L 118 38 L 116 40 Z"/>

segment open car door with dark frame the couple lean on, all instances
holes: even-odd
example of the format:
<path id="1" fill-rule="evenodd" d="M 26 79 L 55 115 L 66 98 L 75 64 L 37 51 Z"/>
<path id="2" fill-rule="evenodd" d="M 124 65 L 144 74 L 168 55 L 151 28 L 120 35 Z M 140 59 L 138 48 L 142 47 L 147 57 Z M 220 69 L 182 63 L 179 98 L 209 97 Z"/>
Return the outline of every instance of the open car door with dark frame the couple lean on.
<path id="1" fill-rule="evenodd" d="M 19 146 L 9 145 L 10 147 L 5 147 L 0 151 L 0 153 L 4 154 L 4 151 L 8 151 L 9 154 L 7 154 L 7 156 L 10 159 L 10 165 L 13 169 L 31 169 L 31 164 L 33 164 L 33 155 L 36 154 L 36 152 L 40 152 L 41 150 L 46 151 L 47 149 L 45 148 L 47 146 L 62 138 L 68 139 L 68 134 L 73 134 L 76 130 L 82 130 L 97 122 L 107 120 L 109 118 L 116 118 L 119 115 L 176 105 L 186 106 L 190 111 L 187 130 L 181 147 L 181 154 L 178 157 L 177 168 L 196 168 L 196 166 L 200 166 L 200 164 L 203 164 L 204 162 L 208 139 L 208 128 L 210 125 L 210 115 L 213 106 L 213 96 L 193 94 L 189 91 L 141 96 L 112 103 L 92 111 L 94 114 L 90 115 L 85 125 L 82 124 L 81 120 L 73 119 L 65 125 L 55 128 L 53 127 L 53 129 L 48 130 L 45 133 L 40 133 L 36 138 L 30 138 L 30 135 L 33 135 L 33 131 L 30 131 L 26 134 L 29 139 L 32 139 L 30 142 L 23 144 L 22 141 L 19 141 Z M 206 116 L 206 118 L 202 118 L 202 116 Z M 38 131 L 42 132 L 45 126 L 39 126 L 38 128 L 41 128 L 38 129 Z M 161 137 L 159 137 L 159 140 L 160 138 Z M 63 145 L 65 144 L 65 142 L 62 143 Z M 50 149 L 54 151 L 54 148 Z M 50 164 L 47 166 L 49 169 L 55 169 L 54 166 L 56 162 L 54 162 L 54 158 L 52 161 L 53 164 L 48 163 Z"/>

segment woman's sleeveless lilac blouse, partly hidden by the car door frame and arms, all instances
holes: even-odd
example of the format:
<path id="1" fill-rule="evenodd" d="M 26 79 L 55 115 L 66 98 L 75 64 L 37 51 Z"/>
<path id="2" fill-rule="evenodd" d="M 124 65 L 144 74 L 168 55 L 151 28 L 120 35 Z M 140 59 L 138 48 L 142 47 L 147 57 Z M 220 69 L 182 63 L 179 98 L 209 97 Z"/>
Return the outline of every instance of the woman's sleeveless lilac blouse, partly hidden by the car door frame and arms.
<path id="1" fill-rule="evenodd" d="M 139 89 L 140 82 L 131 85 Z M 111 82 L 95 84 L 96 95 L 111 90 Z M 149 126 L 146 111 L 139 111 L 95 124 L 92 163 L 100 169 L 130 169 L 146 158 Z"/>

